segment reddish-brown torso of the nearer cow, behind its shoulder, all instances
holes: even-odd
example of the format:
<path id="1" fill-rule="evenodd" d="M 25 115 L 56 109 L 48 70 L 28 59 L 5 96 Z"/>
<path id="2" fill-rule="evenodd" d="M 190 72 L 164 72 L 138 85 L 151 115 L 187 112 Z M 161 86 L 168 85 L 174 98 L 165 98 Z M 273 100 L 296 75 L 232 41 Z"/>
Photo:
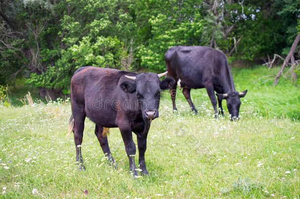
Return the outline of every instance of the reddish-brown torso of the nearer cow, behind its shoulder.
<path id="1" fill-rule="evenodd" d="M 97 124 L 116 127 L 116 102 L 122 93 L 119 81 L 130 72 L 99 67 L 82 67 L 71 79 L 71 103 L 84 108 L 87 117 Z M 104 125 L 106 124 L 106 125 Z"/>

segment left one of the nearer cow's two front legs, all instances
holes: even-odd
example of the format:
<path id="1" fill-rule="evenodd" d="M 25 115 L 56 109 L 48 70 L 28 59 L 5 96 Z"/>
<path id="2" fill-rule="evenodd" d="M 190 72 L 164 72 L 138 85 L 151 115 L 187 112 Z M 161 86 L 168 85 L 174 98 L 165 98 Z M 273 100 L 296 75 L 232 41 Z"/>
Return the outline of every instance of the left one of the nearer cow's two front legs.
<path id="1" fill-rule="evenodd" d="M 129 159 L 129 171 L 133 172 L 133 176 L 137 176 L 136 166 L 134 162 L 135 144 L 132 140 L 132 132 L 130 127 L 119 126 L 121 136 L 125 145 L 125 151 Z"/>

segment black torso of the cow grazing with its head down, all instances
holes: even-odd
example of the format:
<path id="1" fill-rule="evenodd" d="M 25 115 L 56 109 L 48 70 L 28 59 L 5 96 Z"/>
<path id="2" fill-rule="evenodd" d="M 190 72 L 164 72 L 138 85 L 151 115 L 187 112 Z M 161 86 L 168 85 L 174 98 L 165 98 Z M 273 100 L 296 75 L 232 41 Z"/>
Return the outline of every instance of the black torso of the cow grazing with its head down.
<path id="1" fill-rule="evenodd" d="M 190 88 L 202 88 L 204 82 L 219 79 L 228 68 L 226 56 L 205 46 L 171 47 L 165 54 L 168 74 Z M 209 79 L 209 80 L 208 80 Z"/>

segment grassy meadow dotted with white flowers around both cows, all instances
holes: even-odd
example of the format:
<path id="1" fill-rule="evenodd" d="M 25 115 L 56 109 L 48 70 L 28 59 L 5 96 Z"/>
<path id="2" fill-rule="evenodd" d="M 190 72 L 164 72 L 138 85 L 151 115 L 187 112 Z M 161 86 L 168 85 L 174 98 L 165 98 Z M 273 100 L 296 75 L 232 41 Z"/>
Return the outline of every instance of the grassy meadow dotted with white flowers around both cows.
<path id="1" fill-rule="evenodd" d="M 214 119 L 203 89 L 192 92 L 198 115 L 189 111 L 181 93 L 173 114 L 164 93 L 160 117 L 152 121 L 148 135 L 150 176 L 138 179 L 128 172 L 119 130 L 111 129 L 108 137 L 118 164 L 113 169 L 89 119 L 82 143 L 86 171 L 77 170 L 73 136 L 65 138 L 68 102 L 0 107 L 0 198 L 298 199 L 299 88 L 287 80 L 276 87 L 257 81 L 272 73 L 234 70 L 237 90 L 248 89 L 237 122 L 230 121 L 226 109 L 225 117 Z"/>

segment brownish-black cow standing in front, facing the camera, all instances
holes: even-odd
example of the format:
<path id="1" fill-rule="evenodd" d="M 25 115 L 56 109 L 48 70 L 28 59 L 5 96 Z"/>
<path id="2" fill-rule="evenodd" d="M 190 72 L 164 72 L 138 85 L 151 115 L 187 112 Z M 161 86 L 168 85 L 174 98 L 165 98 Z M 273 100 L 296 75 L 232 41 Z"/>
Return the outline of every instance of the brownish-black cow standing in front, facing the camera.
<path id="1" fill-rule="evenodd" d="M 152 119 L 158 117 L 160 90 L 169 89 L 175 83 L 173 78 L 159 78 L 167 72 L 141 73 L 120 71 L 99 67 L 82 67 L 71 80 L 71 131 L 76 145 L 76 161 L 79 169 L 85 169 L 81 155 L 81 143 L 85 118 L 96 124 L 95 135 L 108 159 L 114 159 L 108 146 L 103 127 L 119 127 L 129 159 L 130 171 L 137 175 L 134 163 L 135 144 L 132 132 L 137 135 L 139 165 L 142 174 L 148 174 L 145 163 L 147 135 Z"/>

